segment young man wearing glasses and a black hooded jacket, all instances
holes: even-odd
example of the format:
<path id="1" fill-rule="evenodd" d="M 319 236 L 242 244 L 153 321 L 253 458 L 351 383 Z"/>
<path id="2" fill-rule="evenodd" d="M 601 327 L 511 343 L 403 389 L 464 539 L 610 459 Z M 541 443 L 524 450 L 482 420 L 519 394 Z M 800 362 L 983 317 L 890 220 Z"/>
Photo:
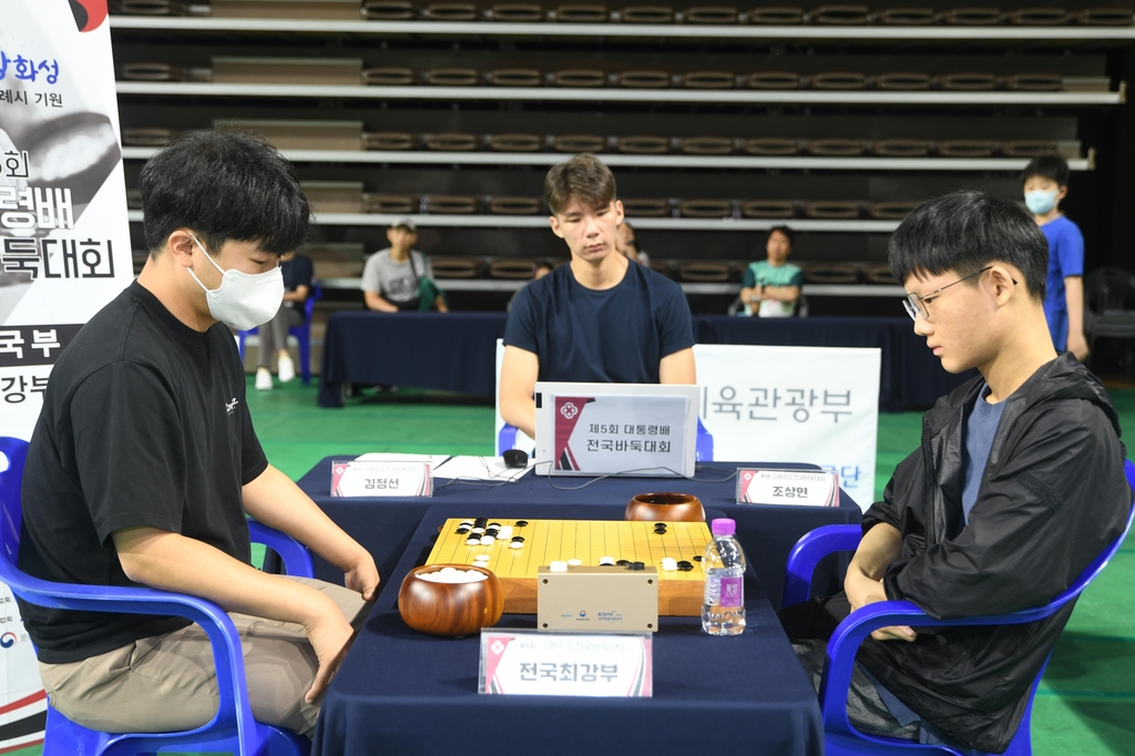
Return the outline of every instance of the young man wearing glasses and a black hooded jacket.
<path id="1" fill-rule="evenodd" d="M 981 376 L 923 418 L 922 447 L 864 515 L 844 593 L 781 610 L 817 684 L 824 641 L 849 612 L 880 600 L 943 619 L 1043 606 L 1123 532 L 1132 505 L 1103 386 L 1052 347 L 1036 225 L 1009 202 L 958 192 L 915 210 L 889 253 L 915 333 L 948 371 Z M 852 724 L 1002 753 L 1071 610 L 1032 624 L 875 631 L 857 655 Z"/>

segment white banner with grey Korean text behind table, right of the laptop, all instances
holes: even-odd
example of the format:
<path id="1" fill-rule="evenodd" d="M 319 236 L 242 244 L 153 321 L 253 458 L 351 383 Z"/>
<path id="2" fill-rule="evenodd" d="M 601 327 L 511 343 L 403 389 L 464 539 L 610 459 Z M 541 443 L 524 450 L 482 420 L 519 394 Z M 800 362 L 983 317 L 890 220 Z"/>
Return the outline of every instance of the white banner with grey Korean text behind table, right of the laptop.
<path id="1" fill-rule="evenodd" d="M 810 462 L 871 506 L 880 350 L 698 344 L 693 356 L 714 462 Z"/>

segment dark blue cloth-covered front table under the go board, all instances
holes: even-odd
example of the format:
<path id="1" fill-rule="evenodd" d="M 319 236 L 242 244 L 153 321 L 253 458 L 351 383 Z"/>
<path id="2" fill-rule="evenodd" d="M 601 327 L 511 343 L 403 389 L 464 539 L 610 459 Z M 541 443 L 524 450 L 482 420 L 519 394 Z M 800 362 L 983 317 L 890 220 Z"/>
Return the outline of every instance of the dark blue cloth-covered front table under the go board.
<path id="1" fill-rule="evenodd" d="M 555 516 L 595 519 L 597 510 L 557 506 Z M 487 514 L 526 512 L 507 505 Z M 451 515 L 428 512 L 388 574 L 327 691 L 314 755 L 823 754 L 816 694 L 753 579 L 740 636 L 706 636 L 698 618 L 659 619 L 653 698 L 479 695 L 480 639 L 418 633 L 396 607 L 397 586 Z M 505 615 L 498 627 L 532 628 L 535 618 Z"/>

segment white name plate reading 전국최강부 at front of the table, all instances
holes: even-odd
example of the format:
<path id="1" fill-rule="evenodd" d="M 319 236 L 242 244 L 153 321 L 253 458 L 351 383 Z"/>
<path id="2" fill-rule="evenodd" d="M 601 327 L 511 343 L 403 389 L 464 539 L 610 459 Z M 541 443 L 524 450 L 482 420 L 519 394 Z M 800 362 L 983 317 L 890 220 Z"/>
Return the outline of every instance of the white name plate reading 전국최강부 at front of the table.
<path id="1" fill-rule="evenodd" d="M 650 698 L 651 638 L 481 630 L 478 691 L 503 696 Z"/>

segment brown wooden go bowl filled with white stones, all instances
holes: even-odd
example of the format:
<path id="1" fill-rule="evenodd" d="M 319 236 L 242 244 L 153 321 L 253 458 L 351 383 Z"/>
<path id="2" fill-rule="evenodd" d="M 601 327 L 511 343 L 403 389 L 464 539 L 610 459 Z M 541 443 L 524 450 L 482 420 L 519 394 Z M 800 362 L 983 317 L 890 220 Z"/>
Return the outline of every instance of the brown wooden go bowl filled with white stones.
<path id="1" fill-rule="evenodd" d="M 487 580 L 478 582 L 430 582 L 419 574 L 442 568 L 477 570 Z M 504 613 L 504 591 L 497 577 L 469 564 L 427 564 L 414 568 L 398 588 L 398 614 L 419 632 L 430 636 L 471 636 L 491 628 Z"/>

